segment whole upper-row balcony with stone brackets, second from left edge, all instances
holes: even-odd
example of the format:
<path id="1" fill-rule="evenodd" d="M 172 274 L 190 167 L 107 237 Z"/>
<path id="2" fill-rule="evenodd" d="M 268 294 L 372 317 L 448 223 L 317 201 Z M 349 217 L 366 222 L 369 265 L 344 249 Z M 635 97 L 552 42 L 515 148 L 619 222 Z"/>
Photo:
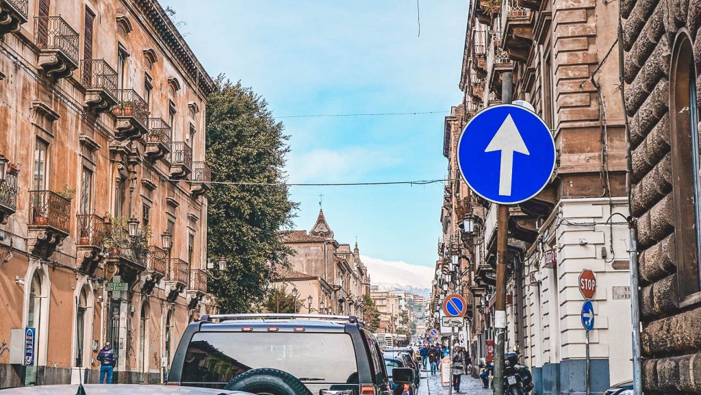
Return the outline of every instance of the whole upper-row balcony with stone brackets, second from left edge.
<path id="1" fill-rule="evenodd" d="M 39 48 L 37 67 L 56 81 L 78 68 L 78 33 L 60 16 L 34 16 L 34 39 Z"/>

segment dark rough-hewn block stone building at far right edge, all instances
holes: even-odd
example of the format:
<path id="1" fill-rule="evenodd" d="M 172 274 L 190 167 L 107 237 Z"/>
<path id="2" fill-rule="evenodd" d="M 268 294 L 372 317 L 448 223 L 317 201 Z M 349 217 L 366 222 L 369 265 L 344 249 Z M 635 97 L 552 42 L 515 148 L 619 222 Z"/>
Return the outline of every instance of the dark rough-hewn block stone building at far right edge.
<path id="1" fill-rule="evenodd" d="M 646 394 L 701 394 L 697 1 L 620 4 Z"/>

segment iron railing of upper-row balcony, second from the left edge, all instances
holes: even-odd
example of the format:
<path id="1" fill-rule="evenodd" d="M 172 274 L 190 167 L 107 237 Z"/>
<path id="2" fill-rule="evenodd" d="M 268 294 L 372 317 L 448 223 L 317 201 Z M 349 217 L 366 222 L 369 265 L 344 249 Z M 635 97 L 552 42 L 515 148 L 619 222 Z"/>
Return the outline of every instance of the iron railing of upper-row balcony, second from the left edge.
<path id="1" fill-rule="evenodd" d="M 78 32 L 60 16 L 34 16 L 34 37 L 40 49 L 61 51 L 78 64 Z"/>

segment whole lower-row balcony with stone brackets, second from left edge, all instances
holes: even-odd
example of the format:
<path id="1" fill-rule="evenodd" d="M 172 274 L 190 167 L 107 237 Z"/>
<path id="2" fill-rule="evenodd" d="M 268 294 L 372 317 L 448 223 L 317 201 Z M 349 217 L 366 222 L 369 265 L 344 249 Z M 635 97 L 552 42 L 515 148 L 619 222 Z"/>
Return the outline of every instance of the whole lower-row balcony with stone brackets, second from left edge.
<path id="1" fill-rule="evenodd" d="M 71 201 L 51 191 L 29 191 L 29 245 L 48 259 L 69 234 Z"/>

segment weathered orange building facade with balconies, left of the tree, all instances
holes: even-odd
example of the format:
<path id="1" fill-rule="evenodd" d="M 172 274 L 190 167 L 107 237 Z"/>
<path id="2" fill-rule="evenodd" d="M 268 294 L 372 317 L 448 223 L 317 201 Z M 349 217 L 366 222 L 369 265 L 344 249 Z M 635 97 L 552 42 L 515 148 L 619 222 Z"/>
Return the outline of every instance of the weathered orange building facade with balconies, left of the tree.
<path id="1" fill-rule="evenodd" d="M 0 387 L 160 382 L 207 295 L 205 98 L 156 0 L 0 1 Z"/>

